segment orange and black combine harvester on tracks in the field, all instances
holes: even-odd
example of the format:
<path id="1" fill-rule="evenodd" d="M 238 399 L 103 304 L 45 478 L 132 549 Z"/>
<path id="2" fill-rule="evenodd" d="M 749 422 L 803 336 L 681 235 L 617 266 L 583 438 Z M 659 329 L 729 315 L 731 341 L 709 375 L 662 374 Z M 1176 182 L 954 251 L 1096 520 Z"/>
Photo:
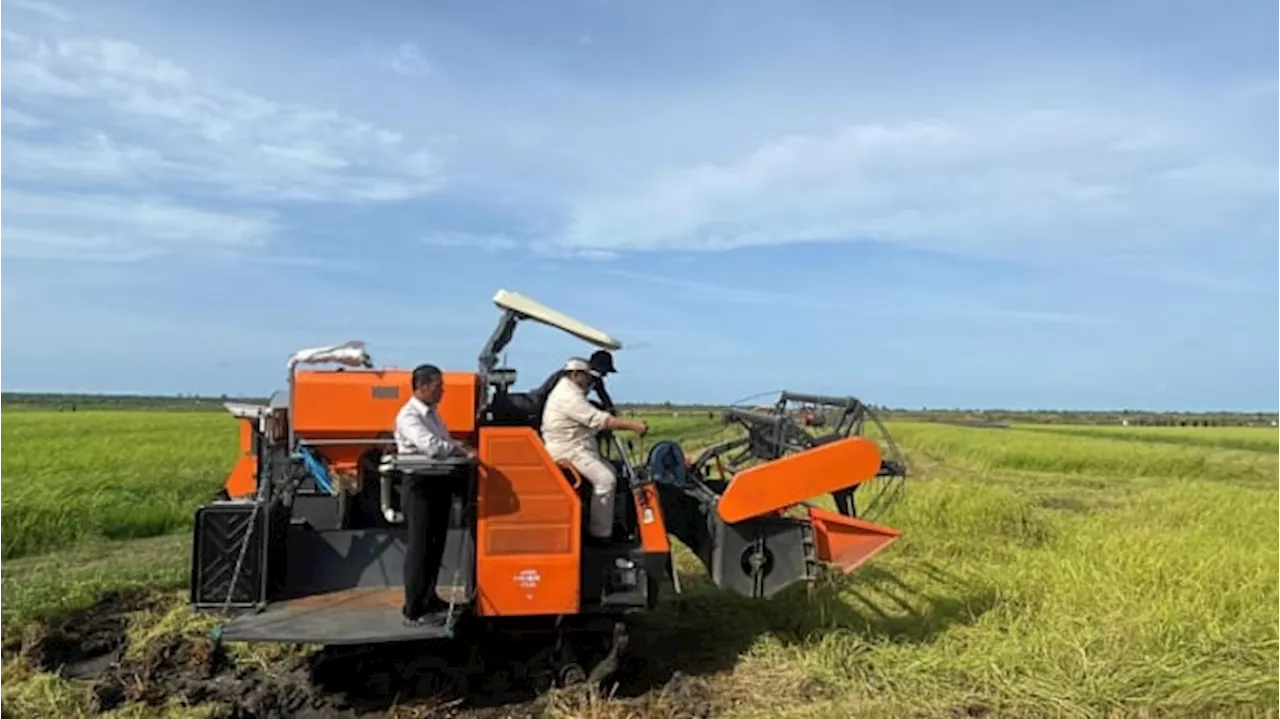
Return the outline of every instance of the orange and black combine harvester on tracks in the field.
<path id="1" fill-rule="evenodd" d="M 712 581 L 769 597 L 812 580 L 818 563 L 852 571 L 900 535 L 855 510 L 859 485 L 883 480 L 877 504 L 892 502 L 906 470 L 863 436 L 874 415 L 858 399 L 782 393 L 776 407 L 723 412 L 741 436 L 692 461 L 673 441 L 628 458 L 631 443 L 600 434 L 618 472 L 614 544 L 584 544 L 590 486 L 552 461 L 539 436 L 545 397 L 511 391 L 515 370 L 498 366 L 520 321 L 557 328 L 603 349 L 608 334 L 526 297 L 499 290 L 500 320 L 477 371 L 447 371 L 440 415 L 475 461 L 398 457 L 394 417 L 410 397 L 410 370 L 374 366 L 364 343 L 310 349 L 288 362 L 288 389 L 266 404 L 228 403 L 241 418 L 242 454 L 224 496 L 196 510 L 191 600 L 233 617 L 225 641 L 366 645 L 449 638 L 567 620 L 607 622 L 612 645 L 591 678 L 616 669 L 626 618 L 653 609 L 667 581 L 680 591 L 668 537 L 686 545 Z M 335 368 L 300 368 L 302 365 Z M 833 417 L 810 435 L 788 403 Z M 812 409 L 810 409 L 812 411 Z M 876 421 L 878 423 L 878 421 Z M 881 426 L 883 431 L 883 426 Z M 896 453 L 884 432 L 888 449 Z M 451 481 L 436 594 L 443 626 L 402 623 L 404 526 L 397 486 Z M 831 494 L 837 510 L 806 500 Z M 883 507 L 879 507 L 883 509 Z M 484 629 L 481 629 L 484 631 Z M 588 678 L 571 654 L 558 676 Z"/>

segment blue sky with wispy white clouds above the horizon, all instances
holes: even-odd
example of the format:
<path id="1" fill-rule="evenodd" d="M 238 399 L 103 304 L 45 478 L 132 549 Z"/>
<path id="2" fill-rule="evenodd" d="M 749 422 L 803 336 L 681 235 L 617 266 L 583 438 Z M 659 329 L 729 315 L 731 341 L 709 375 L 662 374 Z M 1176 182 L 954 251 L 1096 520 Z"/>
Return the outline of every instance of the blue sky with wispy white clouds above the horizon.
<path id="1" fill-rule="evenodd" d="M 0 0 L 0 386 L 472 368 L 507 288 L 620 336 L 621 400 L 1275 409 L 1277 22 Z"/>

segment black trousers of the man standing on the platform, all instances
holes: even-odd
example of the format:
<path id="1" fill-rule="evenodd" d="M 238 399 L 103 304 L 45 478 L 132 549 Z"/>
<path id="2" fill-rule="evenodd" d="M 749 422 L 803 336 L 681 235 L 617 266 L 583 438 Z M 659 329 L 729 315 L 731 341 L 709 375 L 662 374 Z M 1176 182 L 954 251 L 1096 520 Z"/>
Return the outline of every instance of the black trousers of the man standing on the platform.
<path id="1" fill-rule="evenodd" d="M 453 477 L 403 476 L 401 509 L 408 531 L 404 551 L 404 615 L 417 618 L 428 612 L 443 612 L 445 604 L 435 596 L 444 539 L 448 533 L 449 505 L 453 503 Z"/>

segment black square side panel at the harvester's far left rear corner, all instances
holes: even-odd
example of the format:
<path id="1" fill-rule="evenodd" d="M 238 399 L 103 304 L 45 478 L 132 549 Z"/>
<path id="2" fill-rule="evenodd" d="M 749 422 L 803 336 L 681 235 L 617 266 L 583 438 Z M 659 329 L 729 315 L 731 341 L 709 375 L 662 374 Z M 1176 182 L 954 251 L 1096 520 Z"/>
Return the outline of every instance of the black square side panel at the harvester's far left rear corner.
<path id="1" fill-rule="evenodd" d="M 279 504 L 273 510 L 246 502 L 215 502 L 196 509 L 191 562 L 191 601 L 198 608 L 244 608 L 264 604 L 278 592 L 288 571 L 284 553 L 287 521 Z M 252 535 L 244 545 L 253 518 Z M 243 560 L 241 550 L 243 549 Z M 241 562 L 239 574 L 236 564 Z M 236 587 L 232 590 L 232 577 Z"/>

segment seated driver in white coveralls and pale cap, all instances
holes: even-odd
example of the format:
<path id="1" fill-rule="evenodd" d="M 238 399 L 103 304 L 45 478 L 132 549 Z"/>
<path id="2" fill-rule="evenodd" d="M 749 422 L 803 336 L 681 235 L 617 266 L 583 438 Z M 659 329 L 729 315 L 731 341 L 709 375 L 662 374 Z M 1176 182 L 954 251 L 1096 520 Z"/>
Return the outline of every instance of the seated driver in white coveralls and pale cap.
<path id="1" fill-rule="evenodd" d="M 564 363 L 561 377 L 543 409 L 543 444 L 552 459 L 568 462 L 591 484 L 589 539 L 608 541 L 613 533 L 613 496 L 618 477 L 600 457 L 595 435 L 600 430 L 649 431 L 644 421 L 620 420 L 586 400 L 586 390 L 595 381 L 586 360 L 573 357 Z"/>

